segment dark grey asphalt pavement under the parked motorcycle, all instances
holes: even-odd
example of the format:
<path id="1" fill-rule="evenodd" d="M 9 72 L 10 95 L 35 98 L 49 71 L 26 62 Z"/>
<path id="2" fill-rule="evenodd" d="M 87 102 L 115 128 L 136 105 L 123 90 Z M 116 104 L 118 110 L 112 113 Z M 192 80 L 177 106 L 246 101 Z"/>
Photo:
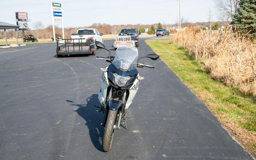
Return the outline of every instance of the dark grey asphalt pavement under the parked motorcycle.
<path id="1" fill-rule="evenodd" d="M 113 40 L 104 43 L 112 49 Z M 138 69 L 145 79 L 129 109 L 129 129 L 117 130 L 111 151 L 103 152 L 103 114 L 94 105 L 100 105 L 100 67 L 108 63 L 57 58 L 55 48 L 0 50 L 0 159 L 252 159 L 160 58 L 142 60 L 155 69 Z M 143 39 L 138 49 L 153 53 Z"/>

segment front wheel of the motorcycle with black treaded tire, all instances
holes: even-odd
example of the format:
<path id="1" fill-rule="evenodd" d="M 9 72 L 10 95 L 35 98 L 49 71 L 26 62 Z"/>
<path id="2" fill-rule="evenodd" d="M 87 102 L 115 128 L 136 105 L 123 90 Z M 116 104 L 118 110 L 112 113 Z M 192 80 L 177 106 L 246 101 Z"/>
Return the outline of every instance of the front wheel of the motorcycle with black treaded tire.
<path id="1" fill-rule="evenodd" d="M 117 110 L 109 110 L 108 118 L 105 125 L 105 133 L 103 138 L 102 147 L 105 152 L 108 152 L 111 148 L 113 136 L 114 136 L 114 125 L 116 124 Z"/>

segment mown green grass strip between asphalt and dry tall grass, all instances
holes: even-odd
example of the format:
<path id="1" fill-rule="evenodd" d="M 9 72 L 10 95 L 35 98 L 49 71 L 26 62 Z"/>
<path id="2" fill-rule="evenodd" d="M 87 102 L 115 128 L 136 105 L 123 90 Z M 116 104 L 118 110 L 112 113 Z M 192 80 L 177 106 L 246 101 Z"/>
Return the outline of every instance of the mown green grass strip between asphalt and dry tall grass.
<path id="1" fill-rule="evenodd" d="M 188 53 L 170 44 L 169 40 L 148 40 L 146 43 L 158 53 L 175 74 L 215 113 L 225 114 L 230 121 L 249 130 L 256 131 L 256 101 L 238 88 L 212 80 L 201 65 Z M 170 77 L 171 78 L 171 77 Z"/>

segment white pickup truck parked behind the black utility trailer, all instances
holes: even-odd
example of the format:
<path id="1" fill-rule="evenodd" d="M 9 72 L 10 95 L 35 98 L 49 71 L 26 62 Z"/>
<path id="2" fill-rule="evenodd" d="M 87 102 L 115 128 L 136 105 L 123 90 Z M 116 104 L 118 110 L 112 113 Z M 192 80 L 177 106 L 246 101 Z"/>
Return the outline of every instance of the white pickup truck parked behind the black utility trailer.
<path id="1" fill-rule="evenodd" d="M 78 38 L 82 38 L 82 42 L 86 42 L 86 39 L 93 38 L 94 41 L 100 41 L 103 43 L 102 33 L 94 28 L 84 28 L 77 30 L 77 33 L 71 35 L 71 39 L 74 39 L 74 43 L 79 42 Z M 80 40 L 81 42 L 81 40 Z"/>

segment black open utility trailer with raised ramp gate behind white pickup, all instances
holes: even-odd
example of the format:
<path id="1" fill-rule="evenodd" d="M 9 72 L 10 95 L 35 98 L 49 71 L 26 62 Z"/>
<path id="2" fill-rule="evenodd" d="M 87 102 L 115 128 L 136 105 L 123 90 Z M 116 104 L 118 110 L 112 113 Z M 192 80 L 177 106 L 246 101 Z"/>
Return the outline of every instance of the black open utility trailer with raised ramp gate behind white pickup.
<path id="1" fill-rule="evenodd" d="M 74 41 L 75 40 L 75 41 Z M 96 45 L 93 38 L 76 38 L 76 39 L 56 39 L 57 56 L 63 55 L 79 55 L 79 54 L 91 54 L 95 55 Z"/>

